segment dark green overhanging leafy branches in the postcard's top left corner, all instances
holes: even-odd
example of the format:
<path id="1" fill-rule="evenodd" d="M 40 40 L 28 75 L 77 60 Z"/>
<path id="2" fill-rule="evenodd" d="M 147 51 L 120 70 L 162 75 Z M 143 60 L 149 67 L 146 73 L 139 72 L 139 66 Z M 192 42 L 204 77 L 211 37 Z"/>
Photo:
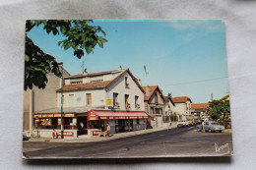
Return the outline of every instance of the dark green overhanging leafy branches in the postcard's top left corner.
<path id="1" fill-rule="evenodd" d="M 58 42 L 58 45 L 67 50 L 72 47 L 74 56 L 81 59 L 84 50 L 87 54 L 94 52 L 96 45 L 103 48 L 103 43 L 107 40 L 100 36 L 105 36 L 105 32 L 100 27 L 90 26 L 92 20 L 28 20 L 26 22 L 26 49 L 25 49 L 25 85 L 24 89 L 37 86 L 44 88 L 47 84 L 46 75 L 53 73 L 61 77 L 58 63 L 55 58 L 44 53 L 32 39 L 28 32 L 32 28 L 43 26 L 43 29 L 53 35 L 62 34 L 65 39 Z"/>

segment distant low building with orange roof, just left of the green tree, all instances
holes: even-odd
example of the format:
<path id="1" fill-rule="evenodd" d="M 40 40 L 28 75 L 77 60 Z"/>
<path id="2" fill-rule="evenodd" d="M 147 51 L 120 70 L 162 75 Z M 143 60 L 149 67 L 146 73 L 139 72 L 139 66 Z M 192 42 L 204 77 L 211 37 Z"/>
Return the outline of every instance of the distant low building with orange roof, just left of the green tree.
<path id="1" fill-rule="evenodd" d="M 192 103 L 191 104 L 191 114 L 194 119 L 203 119 L 207 116 L 207 108 L 209 103 Z"/>

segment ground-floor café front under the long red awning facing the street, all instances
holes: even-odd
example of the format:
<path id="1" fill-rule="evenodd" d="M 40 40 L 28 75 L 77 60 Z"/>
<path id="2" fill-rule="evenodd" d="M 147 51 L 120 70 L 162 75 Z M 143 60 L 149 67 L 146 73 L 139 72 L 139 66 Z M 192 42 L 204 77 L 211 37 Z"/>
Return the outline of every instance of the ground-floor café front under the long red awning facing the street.
<path id="1" fill-rule="evenodd" d="M 88 112 L 88 135 L 97 136 L 100 127 L 110 126 L 110 134 L 146 129 L 148 114 L 143 111 L 91 110 Z"/>

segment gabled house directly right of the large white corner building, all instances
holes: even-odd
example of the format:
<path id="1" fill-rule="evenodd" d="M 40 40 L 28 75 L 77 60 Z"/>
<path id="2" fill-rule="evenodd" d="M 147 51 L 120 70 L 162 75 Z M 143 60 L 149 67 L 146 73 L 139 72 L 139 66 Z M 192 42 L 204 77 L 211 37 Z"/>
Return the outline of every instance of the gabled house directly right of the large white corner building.
<path id="1" fill-rule="evenodd" d="M 165 97 L 162 94 L 159 85 L 143 86 L 145 91 L 144 102 L 145 111 L 151 116 L 148 122 L 148 128 L 162 127 L 162 116 L 164 113 Z"/>

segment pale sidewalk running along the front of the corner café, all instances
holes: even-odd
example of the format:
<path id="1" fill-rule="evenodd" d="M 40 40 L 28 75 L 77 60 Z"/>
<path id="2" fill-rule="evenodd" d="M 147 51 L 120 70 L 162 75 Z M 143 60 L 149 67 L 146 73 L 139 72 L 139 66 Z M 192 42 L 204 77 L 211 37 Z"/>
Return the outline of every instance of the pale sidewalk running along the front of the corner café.
<path id="1" fill-rule="evenodd" d="M 176 124 L 172 123 L 171 129 L 176 128 Z M 133 136 L 139 136 L 143 134 L 149 134 L 154 133 L 162 130 L 167 130 L 169 127 L 160 127 L 155 129 L 147 129 L 147 130 L 141 130 L 141 131 L 133 131 L 133 132 L 127 132 L 127 133 L 119 133 L 119 134 L 111 134 L 109 138 L 104 137 L 93 137 L 90 138 L 89 136 L 79 136 L 79 138 L 73 138 L 73 139 L 51 139 L 51 138 L 32 138 L 29 142 L 104 142 L 104 141 L 111 141 L 116 139 L 122 139 L 127 137 L 133 137 Z"/>

